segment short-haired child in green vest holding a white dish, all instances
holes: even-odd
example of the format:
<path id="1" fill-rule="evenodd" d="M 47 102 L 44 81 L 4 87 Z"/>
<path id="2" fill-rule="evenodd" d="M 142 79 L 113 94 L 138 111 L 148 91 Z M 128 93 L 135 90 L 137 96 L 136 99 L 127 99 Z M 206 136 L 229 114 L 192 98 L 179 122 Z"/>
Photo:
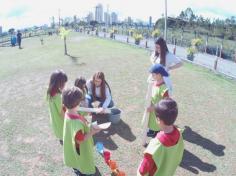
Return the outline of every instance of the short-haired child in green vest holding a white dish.
<path id="1" fill-rule="evenodd" d="M 83 98 L 83 92 L 78 87 L 63 92 L 63 104 L 67 109 L 63 133 L 64 163 L 73 168 L 77 175 L 92 176 L 96 171 L 92 136 L 100 130 L 90 127 L 89 122 L 77 113 Z"/>

